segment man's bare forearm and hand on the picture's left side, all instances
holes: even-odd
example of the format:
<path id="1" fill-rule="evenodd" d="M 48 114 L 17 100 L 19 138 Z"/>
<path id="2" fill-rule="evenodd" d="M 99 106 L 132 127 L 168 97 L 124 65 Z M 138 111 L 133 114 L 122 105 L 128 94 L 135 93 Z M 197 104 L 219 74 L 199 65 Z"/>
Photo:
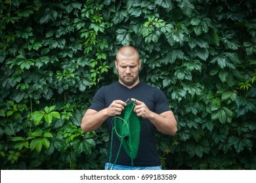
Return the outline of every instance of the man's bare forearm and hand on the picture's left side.
<path id="1" fill-rule="evenodd" d="M 120 100 L 113 101 L 108 108 L 100 111 L 88 109 L 83 115 L 81 129 L 83 133 L 98 129 L 108 117 L 121 114 L 126 103 Z"/>

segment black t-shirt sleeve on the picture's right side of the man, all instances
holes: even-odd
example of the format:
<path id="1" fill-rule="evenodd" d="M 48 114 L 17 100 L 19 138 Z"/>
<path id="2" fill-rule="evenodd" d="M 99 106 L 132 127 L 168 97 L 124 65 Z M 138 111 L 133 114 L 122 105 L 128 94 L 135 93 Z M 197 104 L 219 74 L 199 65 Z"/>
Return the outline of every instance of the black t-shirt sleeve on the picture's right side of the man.
<path id="1" fill-rule="evenodd" d="M 156 97 L 155 112 L 157 114 L 161 114 L 163 112 L 171 110 L 171 108 L 168 105 L 167 97 L 161 90 L 156 90 L 155 97 Z"/>

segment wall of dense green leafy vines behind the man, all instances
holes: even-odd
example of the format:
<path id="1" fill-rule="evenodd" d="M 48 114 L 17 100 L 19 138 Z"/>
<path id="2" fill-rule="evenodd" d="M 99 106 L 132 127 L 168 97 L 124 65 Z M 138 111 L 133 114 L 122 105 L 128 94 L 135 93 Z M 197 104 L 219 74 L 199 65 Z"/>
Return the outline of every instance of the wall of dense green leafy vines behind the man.
<path id="1" fill-rule="evenodd" d="M 130 44 L 179 122 L 156 135 L 164 169 L 256 169 L 253 13 L 253 0 L 0 1 L 0 168 L 103 169 L 108 133 L 83 135 L 81 118 Z"/>

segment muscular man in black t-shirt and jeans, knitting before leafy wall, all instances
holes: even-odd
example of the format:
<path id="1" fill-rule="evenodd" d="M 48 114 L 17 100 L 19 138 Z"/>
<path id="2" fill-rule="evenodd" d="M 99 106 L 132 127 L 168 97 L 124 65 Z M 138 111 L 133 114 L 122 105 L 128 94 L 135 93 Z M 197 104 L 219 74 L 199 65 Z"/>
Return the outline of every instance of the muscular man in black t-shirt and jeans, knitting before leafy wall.
<path id="1" fill-rule="evenodd" d="M 154 129 L 167 135 L 175 135 L 177 131 L 177 121 L 163 92 L 140 82 L 139 69 L 141 64 L 136 48 L 132 46 L 120 48 L 117 51 L 115 61 L 119 80 L 108 86 L 103 86 L 96 92 L 91 107 L 85 112 L 81 121 L 81 129 L 84 133 L 98 129 L 105 121 L 108 131 L 111 133 L 112 119 L 121 114 L 127 105 L 125 101 L 131 99 L 135 102 L 134 112 L 143 118 L 137 158 L 131 166 L 131 158 L 121 148 L 117 161 L 114 163 L 120 145 L 120 141 L 115 135 L 110 162 L 108 162 L 110 142 L 108 143 L 108 158 L 105 169 L 161 169 L 154 139 Z"/>

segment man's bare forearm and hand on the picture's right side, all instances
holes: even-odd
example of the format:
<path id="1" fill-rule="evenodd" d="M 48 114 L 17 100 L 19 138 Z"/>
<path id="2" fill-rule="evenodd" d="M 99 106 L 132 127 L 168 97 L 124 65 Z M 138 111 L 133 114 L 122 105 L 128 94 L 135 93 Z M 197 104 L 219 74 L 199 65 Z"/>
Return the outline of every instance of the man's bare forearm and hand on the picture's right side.
<path id="1" fill-rule="evenodd" d="M 131 99 L 135 101 L 135 99 Z M 156 112 L 152 112 L 146 107 L 144 103 L 136 100 L 136 105 L 134 108 L 137 116 L 141 116 L 142 118 L 146 118 L 150 120 L 150 122 L 156 126 L 156 129 L 161 133 L 167 135 L 175 135 L 177 132 L 177 121 L 175 120 L 175 116 L 171 110 L 163 112 L 161 114 L 156 114 Z"/>

